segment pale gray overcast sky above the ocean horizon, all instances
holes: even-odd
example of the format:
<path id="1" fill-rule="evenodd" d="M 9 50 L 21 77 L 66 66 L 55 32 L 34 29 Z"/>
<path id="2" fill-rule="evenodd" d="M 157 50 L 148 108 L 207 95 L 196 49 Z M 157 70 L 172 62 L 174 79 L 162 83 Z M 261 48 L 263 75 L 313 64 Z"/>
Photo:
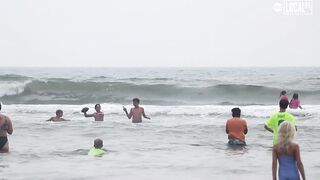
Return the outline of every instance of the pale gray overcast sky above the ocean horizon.
<path id="1" fill-rule="evenodd" d="M 320 66 L 319 2 L 0 0 L 0 66 Z"/>

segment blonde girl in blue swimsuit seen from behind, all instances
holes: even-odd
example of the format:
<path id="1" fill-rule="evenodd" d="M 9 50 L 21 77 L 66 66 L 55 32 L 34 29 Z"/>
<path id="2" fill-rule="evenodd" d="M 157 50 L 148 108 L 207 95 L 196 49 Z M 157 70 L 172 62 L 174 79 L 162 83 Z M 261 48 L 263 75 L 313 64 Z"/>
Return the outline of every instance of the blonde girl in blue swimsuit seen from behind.
<path id="1" fill-rule="evenodd" d="M 277 179 L 277 161 L 279 162 L 279 180 L 299 180 L 299 171 L 302 179 L 306 179 L 299 145 L 292 142 L 295 132 L 295 127 L 290 122 L 281 123 L 278 143 L 273 146 L 272 153 L 273 180 Z"/>

